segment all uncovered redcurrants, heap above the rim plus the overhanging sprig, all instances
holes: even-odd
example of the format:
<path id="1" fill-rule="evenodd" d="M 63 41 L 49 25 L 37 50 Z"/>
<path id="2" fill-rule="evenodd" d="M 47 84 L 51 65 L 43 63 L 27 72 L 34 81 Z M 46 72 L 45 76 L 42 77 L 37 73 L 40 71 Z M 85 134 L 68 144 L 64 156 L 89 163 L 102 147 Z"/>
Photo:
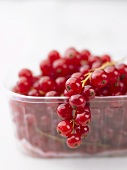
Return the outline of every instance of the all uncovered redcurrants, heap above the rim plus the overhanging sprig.
<path id="1" fill-rule="evenodd" d="M 88 50 L 69 48 L 61 56 L 51 51 L 40 63 L 41 74 L 20 70 L 13 92 L 27 96 L 67 96 L 57 114 L 62 121 L 57 132 L 67 138 L 70 148 L 81 144 L 89 133 L 91 111 L 89 101 L 95 96 L 116 96 L 127 93 L 127 65 L 111 61 L 109 55 L 93 56 Z"/>

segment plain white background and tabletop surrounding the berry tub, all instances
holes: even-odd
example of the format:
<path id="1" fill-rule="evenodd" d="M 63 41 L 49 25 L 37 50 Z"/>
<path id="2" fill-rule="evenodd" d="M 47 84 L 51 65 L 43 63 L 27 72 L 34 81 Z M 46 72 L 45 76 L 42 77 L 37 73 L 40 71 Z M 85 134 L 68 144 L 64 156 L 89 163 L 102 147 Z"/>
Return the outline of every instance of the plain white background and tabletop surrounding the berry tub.
<path id="1" fill-rule="evenodd" d="M 19 60 L 37 60 L 69 46 L 127 55 L 126 1 L 0 1 L 0 71 Z M 25 61 L 24 61 L 25 62 Z M 126 170 L 127 157 L 35 159 L 15 147 L 6 98 L 0 91 L 0 170 Z"/>

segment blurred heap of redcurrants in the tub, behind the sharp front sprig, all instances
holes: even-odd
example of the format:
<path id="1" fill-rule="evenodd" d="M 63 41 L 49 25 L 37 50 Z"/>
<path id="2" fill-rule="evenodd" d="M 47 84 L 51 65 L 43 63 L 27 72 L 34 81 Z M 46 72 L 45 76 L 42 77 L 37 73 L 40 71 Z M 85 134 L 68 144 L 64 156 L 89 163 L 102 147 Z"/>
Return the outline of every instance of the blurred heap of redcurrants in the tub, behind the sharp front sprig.
<path id="1" fill-rule="evenodd" d="M 13 91 L 28 96 L 66 96 L 65 82 L 73 73 L 76 73 L 73 78 L 81 77 L 83 80 L 90 69 L 95 69 L 107 61 L 110 61 L 108 55 L 93 56 L 88 50 L 78 52 L 69 48 L 63 56 L 54 50 L 40 63 L 41 73 L 38 76 L 34 76 L 27 68 L 20 70 Z M 71 92 L 68 95 L 71 95 Z"/>

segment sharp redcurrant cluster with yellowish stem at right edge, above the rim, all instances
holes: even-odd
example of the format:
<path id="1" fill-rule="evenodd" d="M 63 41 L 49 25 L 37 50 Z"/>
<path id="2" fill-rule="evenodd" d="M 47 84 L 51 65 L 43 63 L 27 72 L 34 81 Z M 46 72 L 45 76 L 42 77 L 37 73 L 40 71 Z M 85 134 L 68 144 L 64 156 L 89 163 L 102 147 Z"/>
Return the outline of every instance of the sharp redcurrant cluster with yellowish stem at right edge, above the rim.
<path id="1" fill-rule="evenodd" d="M 96 96 L 118 96 L 127 93 L 127 65 L 107 62 L 91 73 L 90 83 Z"/>

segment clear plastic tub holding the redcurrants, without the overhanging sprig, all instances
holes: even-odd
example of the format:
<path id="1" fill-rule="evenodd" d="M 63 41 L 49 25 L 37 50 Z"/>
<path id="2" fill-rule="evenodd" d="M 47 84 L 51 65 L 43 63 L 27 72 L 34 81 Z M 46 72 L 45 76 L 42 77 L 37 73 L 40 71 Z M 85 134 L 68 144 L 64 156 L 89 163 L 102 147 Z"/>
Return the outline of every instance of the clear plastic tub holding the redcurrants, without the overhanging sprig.
<path id="1" fill-rule="evenodd" d="M 26 67 L 30 68 L 28 65 Z M 24 63 L 8 70 L 4 76 L 4 89 L 18 145 L 25 153 L 41 158 L 127 155 L 127 96 L 93 99 L 89 103 L 92 114 L 90 134 L 79 148 L 70 149 L 66 139 L 56 132 L 60 121 L 56 108 L 68 99 L 31 97 L 12 92 L 18 70 L 23 67 Z M 32 64 L 31 68 L 33 70 Z"/>

